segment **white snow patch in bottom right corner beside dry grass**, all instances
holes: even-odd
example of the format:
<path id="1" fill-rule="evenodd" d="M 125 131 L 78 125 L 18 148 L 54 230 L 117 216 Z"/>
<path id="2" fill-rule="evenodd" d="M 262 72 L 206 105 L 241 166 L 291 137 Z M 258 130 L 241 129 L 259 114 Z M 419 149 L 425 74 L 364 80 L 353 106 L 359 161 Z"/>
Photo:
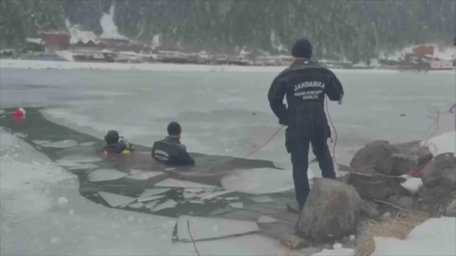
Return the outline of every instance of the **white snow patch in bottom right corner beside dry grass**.
<path id="1" fill-rule="evenodd" d="M 426 220 L 413 229 L 405 240 L 374 237 L 372 256 L 456 255 L 456 218 Z"/>

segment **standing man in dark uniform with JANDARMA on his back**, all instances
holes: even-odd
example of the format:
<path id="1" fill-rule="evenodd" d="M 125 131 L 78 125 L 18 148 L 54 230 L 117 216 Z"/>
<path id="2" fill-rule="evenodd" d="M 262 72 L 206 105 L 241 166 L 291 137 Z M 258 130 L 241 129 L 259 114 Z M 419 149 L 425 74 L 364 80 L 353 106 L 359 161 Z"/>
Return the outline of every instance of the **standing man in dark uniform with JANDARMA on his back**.
<path id="1" fill-rule="evenodd" d="M 310 58 L 312 45 L 307 39 L 295 42 L 293 63 L 272 82 L 268 99 L 279 123 L 288 126 L 285 148 L 291 154 L 296 200 L 302 210 L 309 195 L 309 144 L 324 178 L 335 179 L 334 164 L 327 144 L 330 128 L 324 110 L 325 96 L 342 104 L 343 88 L 330 70 Z M 286 95 L 288 108 L 283 103 Z"/>

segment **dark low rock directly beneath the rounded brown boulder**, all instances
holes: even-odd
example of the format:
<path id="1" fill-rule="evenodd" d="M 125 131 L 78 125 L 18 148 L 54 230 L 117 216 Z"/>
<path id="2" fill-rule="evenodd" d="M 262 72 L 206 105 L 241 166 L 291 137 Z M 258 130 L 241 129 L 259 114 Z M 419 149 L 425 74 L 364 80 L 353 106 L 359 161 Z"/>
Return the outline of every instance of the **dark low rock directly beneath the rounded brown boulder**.
<path id="1" fill-rule="evenodd" d="M 365 174 L 350 172 L 343 177 L 345 183 L 352 185 L 366 200 L 386 200 L 393 195 L 409 195 L 401 186 L 407 179 L 385 174 Z"/>

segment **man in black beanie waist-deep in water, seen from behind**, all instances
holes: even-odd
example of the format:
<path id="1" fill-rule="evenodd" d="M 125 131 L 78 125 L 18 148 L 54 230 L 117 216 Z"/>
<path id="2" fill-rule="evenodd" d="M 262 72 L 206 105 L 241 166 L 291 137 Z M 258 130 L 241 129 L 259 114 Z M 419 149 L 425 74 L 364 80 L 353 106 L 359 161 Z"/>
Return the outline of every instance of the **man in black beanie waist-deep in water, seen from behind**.
<path id="1" fill-rule="evenodd" d="M 168 165 L 193 165 L 195 160 L 181 144 L 181 125 L 177 122 L 168 124 L 168 137 L 156 141 L 152 146 L 152 158 Z"/>

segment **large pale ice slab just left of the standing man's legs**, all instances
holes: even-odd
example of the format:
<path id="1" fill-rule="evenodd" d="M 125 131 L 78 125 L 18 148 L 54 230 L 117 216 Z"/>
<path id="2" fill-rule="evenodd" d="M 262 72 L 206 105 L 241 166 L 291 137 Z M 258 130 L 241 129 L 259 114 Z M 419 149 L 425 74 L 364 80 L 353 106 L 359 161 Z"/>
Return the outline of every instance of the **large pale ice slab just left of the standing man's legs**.
<path id="1" fill-rule="evenodd" d="M 224 189 L 254 195 L 278 193 L 294 188 L 291 170 L 257 168 L 237 170 L 222 178 Z"/>

